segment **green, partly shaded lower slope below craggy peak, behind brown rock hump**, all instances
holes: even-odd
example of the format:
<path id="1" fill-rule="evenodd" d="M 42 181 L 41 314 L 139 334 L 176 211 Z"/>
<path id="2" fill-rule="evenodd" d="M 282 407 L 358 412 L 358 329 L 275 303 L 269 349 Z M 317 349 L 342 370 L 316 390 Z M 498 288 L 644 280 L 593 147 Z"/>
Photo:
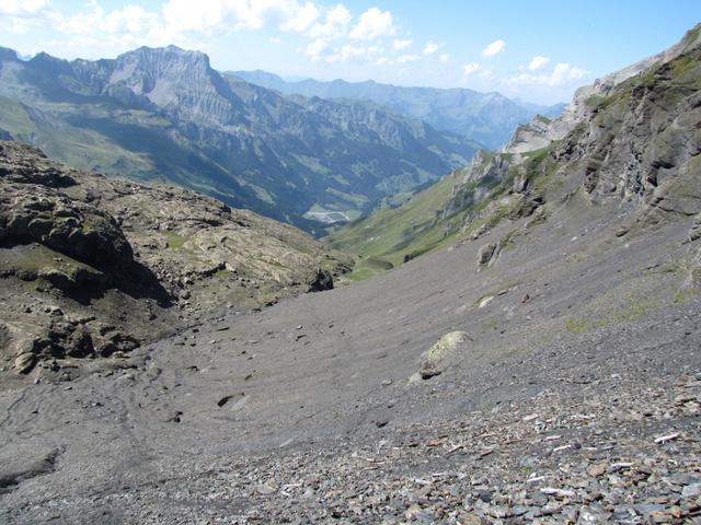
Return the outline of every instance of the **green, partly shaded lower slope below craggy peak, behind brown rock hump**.
<path id="1" fill-rule="evenodd" d="M 188 143 L 169 139 L 169 122 L 138 109 L 0 96 L 0 129 L 79 170 L 136 180 L 180 184 L 239 208 L 250 208 L 225 167 Z M 143 144 L 151 144 L 150 149 Z M 151 150 L 159 152 L 156 158 Z"/>

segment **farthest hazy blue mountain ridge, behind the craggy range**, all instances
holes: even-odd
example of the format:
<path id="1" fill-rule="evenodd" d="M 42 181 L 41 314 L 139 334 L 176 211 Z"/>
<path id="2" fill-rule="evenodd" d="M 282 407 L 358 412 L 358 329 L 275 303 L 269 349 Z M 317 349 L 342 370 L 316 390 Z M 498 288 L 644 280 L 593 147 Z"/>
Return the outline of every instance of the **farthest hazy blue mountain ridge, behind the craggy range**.
<path id="1" fill-rule="evenodd" d="M 490 149 L 506 143 L 516 126 L 530 121 L 536 114 L 556 117 L 565 106 L 539 106 L 513 101 L 496 92 L 481 93 L 462 88 L 405 88 L 371 80 L 322 82 L 306 79 L 291 82 L 262 70 L 228 73 L 287 95 L 371 101 L 392 112 L 424 120 L 436 129 L 469 137 Z"/>

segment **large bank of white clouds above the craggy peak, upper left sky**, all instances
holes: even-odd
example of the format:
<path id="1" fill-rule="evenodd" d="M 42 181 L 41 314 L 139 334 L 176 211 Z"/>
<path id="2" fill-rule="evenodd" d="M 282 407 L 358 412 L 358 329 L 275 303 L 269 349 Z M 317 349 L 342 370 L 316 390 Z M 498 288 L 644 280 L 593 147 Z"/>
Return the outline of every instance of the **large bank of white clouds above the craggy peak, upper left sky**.
<path id="1" fill-rule="evenodd" d="M 336 0 L 337 1 L 337 0 Z M 51 0 L 0 0 L 0 31 L 51 34 L 37 39 L 38 49 L 59 56 L 114 56 L 135 47 L 175 44 L 207 50 L 216 38 L 232 32 L 267 31 L 271 45 L 291 43 L 312 61 L 410 65 L 423 56 L 450 61 L 444 44 L 428 40 L 412 52 L 411 38 L 394 37 L 389 10 L 376 7 L 356 16 L 343 4 L 321 0 L 160 0 L 125 2 L 83 0 L 77 10 Z M 3 16 L 4 15 L 4 16 Z M 287 33 L 296 35 L 286 38 Z"/>

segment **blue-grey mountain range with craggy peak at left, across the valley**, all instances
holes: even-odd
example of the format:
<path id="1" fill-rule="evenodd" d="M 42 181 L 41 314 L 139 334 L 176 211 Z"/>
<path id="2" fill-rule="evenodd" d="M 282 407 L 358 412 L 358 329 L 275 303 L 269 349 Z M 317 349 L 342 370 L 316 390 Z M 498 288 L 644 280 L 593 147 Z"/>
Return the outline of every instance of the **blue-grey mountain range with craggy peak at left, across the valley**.
<path id="1" fill-rule="evenodd" d="M 311 219 L 353 219 L 434 180 L 479 148 L 369 102 L 280 96 L 174 46 L 96 61 L 0 49 L 0 135 L 308 231 L 319 228 Z"/>

